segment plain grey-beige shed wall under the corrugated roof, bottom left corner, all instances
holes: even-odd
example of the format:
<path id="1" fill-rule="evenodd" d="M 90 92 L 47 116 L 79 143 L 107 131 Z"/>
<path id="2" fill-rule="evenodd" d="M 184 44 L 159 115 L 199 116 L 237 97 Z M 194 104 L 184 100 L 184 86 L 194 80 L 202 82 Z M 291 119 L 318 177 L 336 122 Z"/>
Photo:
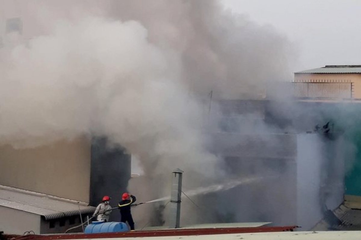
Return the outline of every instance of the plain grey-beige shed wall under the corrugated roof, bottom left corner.
<path id="1" fill-rule="evenodd" d="M 0 206 L 0 230 L 5 234 L 23 235 L 26 231 L 40 234 L 40 216 Z"/>

